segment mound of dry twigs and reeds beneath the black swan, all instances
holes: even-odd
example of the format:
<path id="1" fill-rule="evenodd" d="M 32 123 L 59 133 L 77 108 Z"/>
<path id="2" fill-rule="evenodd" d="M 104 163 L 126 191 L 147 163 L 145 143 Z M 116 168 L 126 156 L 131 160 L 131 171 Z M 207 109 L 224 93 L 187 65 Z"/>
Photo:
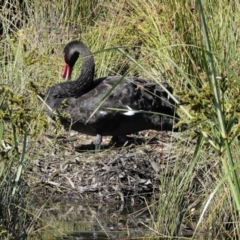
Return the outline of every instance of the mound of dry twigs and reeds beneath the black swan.
<path id="1" fill-rule="evenodd" d="M 145 131 L 115 146 L 78 145 L 84 135 L 61 136 L 50 151 L 39 154 L 30 169 L 30 186 L 45 197 L 83 201 L 136 201 L 159 192 L 159 175 L 174 165 L 173 136 Z M 84 139 L 84 142 L 86 139 Z M 109 138 L 105 137 L 105 141 Z M 78 146 L 77 146 L 78 145 Z M 157 195 L 156 195 L 157 196 Z"/>

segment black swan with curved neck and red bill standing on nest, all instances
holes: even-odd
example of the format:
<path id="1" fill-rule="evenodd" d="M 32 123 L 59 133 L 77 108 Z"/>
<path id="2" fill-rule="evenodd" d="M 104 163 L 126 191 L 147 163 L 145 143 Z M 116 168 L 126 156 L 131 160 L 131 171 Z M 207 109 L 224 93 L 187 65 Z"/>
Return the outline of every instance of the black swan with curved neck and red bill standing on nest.
<path id="1" fill-rule="evenodd" d="M 82 70 L 78 79 L 56 84 L 48 90 L 45 110 L 51 117 L 60 112 L 60 120 L 65 127 L 95 135 L 96 149 L 100 148 L 102 136 L 117 137 L 147 129 L 173 129 L 176 122 L 174 102 L 160 85 L 134 76 L 108 76 L 94 81 L 94 58 L 83 42 L 68 43 L 63 53 L 64 78 L 71 78 L 79 55 L 82 56 Z M 92 115 L 117 81 L 119 84 Z M 167 83 L 162 85 L 172 93 Z M 62 112 L 67 113 L 65 117 Z"/>

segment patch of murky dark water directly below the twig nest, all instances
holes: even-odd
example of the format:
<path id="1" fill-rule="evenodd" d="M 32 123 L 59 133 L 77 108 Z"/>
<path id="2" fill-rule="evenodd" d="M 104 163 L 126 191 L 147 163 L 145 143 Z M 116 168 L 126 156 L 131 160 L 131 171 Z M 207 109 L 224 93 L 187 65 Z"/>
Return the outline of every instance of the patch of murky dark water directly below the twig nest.
<path id="1" fill-rule="evenodd" d="M 41 208 L 40 208 L 41 209 Z M 136 239 L 145 236 L 149 209 L 139 204 L 96 204 L 58 202 L 42 207 L 41 239 Z"/>

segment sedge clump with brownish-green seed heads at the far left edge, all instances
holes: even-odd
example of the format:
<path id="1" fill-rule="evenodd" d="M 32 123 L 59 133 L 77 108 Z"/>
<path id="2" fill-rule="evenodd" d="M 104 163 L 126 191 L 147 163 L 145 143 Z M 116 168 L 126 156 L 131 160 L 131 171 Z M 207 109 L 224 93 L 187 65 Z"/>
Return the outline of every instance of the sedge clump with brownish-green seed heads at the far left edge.
<path id="1" fill-rule="evenodd" d="M 26 237 L 30 219 L 24 196 L 24 171 L 28 139 L 47 127 L 46 118 L 30 105 L 29 97 L 0 87 L 0 236 Z"/>

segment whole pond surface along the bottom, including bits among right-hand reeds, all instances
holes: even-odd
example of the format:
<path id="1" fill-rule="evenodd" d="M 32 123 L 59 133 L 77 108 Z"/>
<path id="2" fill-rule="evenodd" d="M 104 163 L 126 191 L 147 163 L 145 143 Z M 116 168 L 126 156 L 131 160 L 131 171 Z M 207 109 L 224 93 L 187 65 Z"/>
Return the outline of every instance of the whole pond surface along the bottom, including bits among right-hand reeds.
<path id="1" fill-rule="evenodd" d="M 139 240 L 157 233 L 152 227 L 157 222 L 157 201 L 134 205 L 61 201 L 36 203 L 33 207 L 39 221 L 29 240 Z M 185 239 L 192 236 L 196 223 L 191 223 L 193 228 L 187 222 L 183 224 L 179 236 Z M 226 239 L 224 232 L 216 236 L 209 231 L 200 231 L 196 236 L 199 240 Z M 218 238 L 220 236 L 223 237 Z"/>

